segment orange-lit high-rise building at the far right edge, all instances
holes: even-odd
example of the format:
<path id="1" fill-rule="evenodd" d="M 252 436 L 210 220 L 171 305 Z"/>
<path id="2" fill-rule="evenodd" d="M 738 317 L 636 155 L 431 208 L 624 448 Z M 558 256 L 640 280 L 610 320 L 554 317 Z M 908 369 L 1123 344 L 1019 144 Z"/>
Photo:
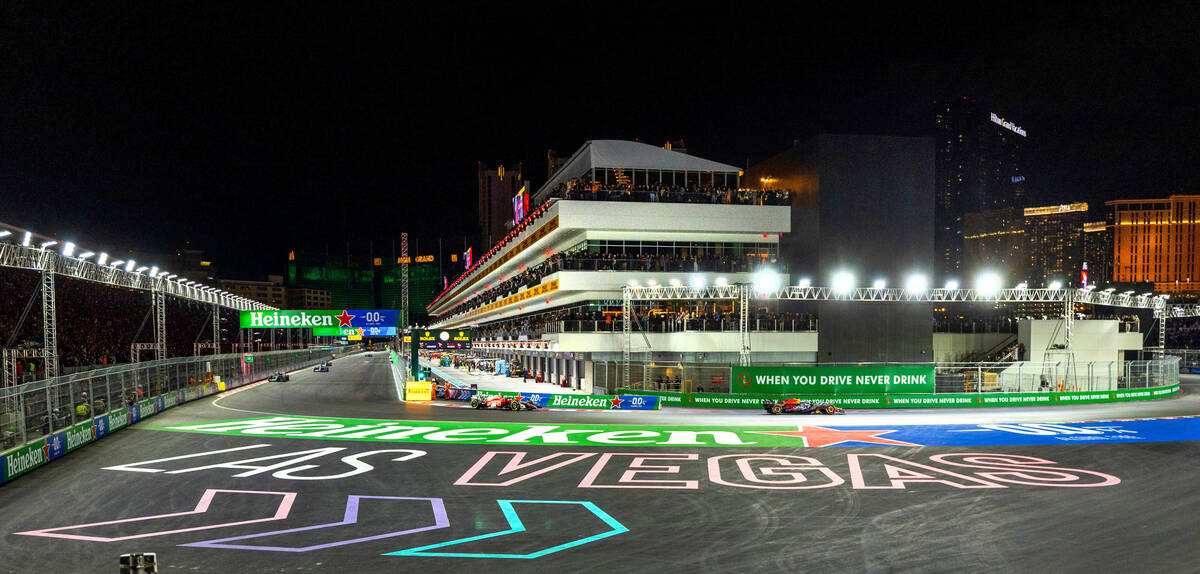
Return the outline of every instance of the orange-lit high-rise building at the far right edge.
<path id="1" fill-rule="evenodd" d="M 1106 202 L 1112 221 L 1114 282 L 1154 291 L 1200 291 L 1200 196 Z"/>

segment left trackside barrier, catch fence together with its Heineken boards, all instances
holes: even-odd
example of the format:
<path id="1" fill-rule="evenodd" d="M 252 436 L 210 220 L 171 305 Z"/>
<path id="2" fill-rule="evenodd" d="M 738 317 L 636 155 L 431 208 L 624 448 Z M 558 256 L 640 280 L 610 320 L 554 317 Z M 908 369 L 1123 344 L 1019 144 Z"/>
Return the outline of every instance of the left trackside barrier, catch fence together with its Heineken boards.
<path id="1" fill-rule="evenodd" d="M 331 347 L 116 365 L 0 389 L 0 484 L 168 408 L 334 358 Z M 157 394 L 148 390 L 156 389 Z M 112 408 L 109 405 L 119 406 Z M 8 448 L 11 443 L 16 447 Z"/>

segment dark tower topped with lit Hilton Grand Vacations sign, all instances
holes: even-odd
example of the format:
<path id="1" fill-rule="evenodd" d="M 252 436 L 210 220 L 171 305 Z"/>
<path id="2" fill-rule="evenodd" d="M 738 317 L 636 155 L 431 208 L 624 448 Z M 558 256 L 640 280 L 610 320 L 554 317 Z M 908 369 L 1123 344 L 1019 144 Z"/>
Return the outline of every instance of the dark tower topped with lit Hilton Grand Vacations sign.
<path id="1" fill-rule="evenodd" d="M 966 214 L 1025 207 L 1027 134 L 1010 118 L 967 97 L 935 101 L 934 126 L 935 263 L 941 279 L 955 279 L 971 267 L 964 261 Z"/>

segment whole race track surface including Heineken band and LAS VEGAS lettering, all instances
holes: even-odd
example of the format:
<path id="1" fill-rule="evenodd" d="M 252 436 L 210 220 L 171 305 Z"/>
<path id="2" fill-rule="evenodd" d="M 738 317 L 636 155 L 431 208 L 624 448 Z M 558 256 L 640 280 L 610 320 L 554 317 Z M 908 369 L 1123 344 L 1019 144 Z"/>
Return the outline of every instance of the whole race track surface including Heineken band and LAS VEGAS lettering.
<path id="1" fill-rule="evenodd" d="M 1184 378 L 1097 406 L 499 412 L 406 405 L 384 354 L 347 357 L 0 486 L 0 572 L 1196 572 Z"/>

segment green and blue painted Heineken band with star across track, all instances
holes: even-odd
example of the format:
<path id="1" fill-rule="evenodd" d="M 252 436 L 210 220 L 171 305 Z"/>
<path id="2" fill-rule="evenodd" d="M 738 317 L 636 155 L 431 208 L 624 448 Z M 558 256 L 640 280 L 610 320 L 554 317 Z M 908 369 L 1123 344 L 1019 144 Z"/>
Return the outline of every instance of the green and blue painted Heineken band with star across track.
<path id="1" fill-rule="evenodd" d="M 797 417 L 792 425 L 713 427 L 259 417 L 152 429 L 256 438 L 502 447 L 988 447 L 1200 441 L 1200 417 L 1054 424 L 847 426 L 823 423 Z"/>

